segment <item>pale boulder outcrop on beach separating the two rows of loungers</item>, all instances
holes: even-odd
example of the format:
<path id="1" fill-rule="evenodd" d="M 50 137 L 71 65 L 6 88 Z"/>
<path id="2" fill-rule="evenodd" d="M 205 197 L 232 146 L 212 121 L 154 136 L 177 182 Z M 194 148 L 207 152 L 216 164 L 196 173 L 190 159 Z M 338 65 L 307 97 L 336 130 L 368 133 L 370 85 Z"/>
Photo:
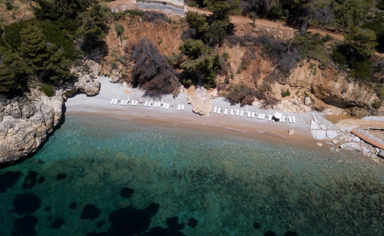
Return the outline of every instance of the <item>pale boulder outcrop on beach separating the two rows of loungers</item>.
<path id="1" fill-rule="evenodd" d="M 181 90 L 187 95 L 187 102 L 192 105 L 193 112 L 202 116 L 209 116 L 209 113 L 212 111 L 213 96 L 210 96 L 207 89 L 197 87 L 193 91 L 193 94 L 185 91 L 184 87 L 182 87 Z"/>

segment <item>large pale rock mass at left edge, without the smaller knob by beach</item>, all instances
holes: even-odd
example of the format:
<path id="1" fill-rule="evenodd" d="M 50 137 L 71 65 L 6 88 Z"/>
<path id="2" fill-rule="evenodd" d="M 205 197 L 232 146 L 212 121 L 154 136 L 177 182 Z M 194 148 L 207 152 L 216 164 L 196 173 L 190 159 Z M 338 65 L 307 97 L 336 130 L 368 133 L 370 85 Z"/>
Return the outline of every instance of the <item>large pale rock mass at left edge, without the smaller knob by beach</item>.
<path id="1" fill-rule="evenodd" d="M 53 97 L 47 97 L 38 90 L 35 90 L 35 94 L 32 92 L 27 98 L 2 99 L 0 163 L 18 160 L 34 152 L 47 133 L 59 123 L 63 91 L 56 91 Z"/>

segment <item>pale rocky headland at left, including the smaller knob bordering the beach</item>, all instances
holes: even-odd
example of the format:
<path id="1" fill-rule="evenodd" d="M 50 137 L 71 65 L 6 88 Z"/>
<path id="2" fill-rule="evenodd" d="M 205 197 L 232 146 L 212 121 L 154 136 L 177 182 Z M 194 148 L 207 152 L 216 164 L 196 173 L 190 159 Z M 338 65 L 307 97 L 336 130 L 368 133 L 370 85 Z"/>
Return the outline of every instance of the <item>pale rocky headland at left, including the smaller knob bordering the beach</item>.
<path id="1" fill-rule="evenodd" d="M 99 93 L 99 64 L 85 61 L 84 65 L 73 68 L 78 81 L 65 90 L 56 91 L 52 97 L 38 89 L 32 89 L 23 97 L 0 97 L 0 163 L 12 162 L 34 152 L 60 122 L 67 96 L 77 91 L 87 95 Z"/>

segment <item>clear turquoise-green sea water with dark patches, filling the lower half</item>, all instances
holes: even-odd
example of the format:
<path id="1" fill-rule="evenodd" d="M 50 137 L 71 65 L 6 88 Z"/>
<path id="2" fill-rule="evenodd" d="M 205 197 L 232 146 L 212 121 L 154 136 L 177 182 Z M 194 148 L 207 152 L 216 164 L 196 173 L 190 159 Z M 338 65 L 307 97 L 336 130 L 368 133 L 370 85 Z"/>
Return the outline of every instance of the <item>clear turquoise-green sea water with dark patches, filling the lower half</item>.
<path id="1" fill-rule="evenodd" d="M 66 115 L 0 169 L 1 235 L 384 235 L 384 172 L 257 139 Z"/>

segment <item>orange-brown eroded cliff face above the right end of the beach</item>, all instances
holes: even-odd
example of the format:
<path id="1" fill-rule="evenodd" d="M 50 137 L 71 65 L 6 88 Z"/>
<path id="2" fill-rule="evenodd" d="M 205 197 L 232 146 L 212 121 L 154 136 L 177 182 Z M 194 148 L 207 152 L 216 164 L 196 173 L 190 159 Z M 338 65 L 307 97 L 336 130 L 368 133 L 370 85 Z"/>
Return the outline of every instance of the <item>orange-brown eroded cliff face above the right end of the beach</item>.
<path id="1" fill-rule="evenodd" d="M 298 66 L 290 76 L 281 78 L 278 83 L 305 89 L 326 104 L 346 109 L 355 116 L 366 114 L 367 107 L 378 100 L 373 87 L 347 81 L 346 76 L 335 69 L 320 70 L 311 63 Z M 309 102 L 307 99 L 306 104 Z"/>

